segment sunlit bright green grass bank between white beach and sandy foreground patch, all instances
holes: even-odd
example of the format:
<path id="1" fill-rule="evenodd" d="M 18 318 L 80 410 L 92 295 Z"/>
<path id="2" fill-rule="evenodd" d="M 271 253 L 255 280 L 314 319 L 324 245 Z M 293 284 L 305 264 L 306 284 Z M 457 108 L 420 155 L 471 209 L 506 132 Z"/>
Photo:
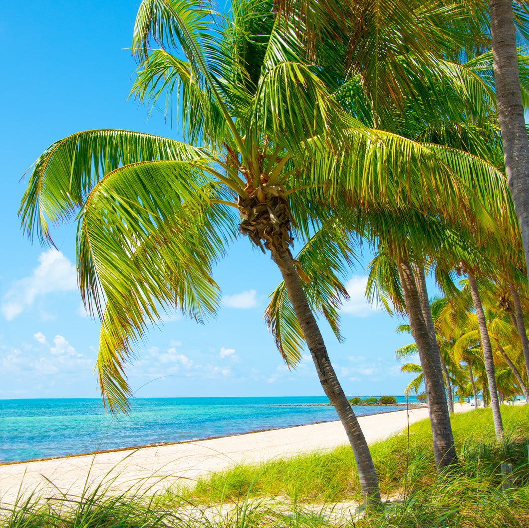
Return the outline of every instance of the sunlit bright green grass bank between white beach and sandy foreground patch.
<path id="1" fill-rule="evenodd" d="M 525 483 L 529 475 L 529 406 L 502 407 L 506 440 L 498 445 L 490 409 L 452 416 L 452 430 L 461 465 L 458 479 L 476 476 L 488 486 L 499 486 L 498 465 L 514 465 L 516 479 Z M 385 496 L 401 495 L 437 485 L 430 421 L 413 424 L 407 433 L 392 436 L 370 447 Z M 285 496 L 296 502 L 339 502 L 361 499 L 354 458 L 347 445 L 327 453 L 312 453 L 280 459 L 260 466 L 238 465 L 200 479 L 191 490 L 176 495 L 189 500 L 218 502 L 239 500 L 250 494 Z"/>

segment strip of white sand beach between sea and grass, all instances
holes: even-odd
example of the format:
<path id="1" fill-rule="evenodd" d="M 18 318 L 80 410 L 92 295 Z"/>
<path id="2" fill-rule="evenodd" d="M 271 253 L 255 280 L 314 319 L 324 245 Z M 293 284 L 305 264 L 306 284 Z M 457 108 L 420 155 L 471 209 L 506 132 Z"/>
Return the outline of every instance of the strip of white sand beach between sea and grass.
<path id="1" fill-rule="evenodd" d="M 469 404 L 456 407 L 457 412 L 471 408 Z M 427 416 L 427 409 L 413 409 L 409 412 L 409 422 Z M 359 422 L 368 443 L 373 443 L 402 431 L 406 427 L 406 411 L 363 416 Z M 152 493 L 172 484 L 190 483 L 235 463 L 328 451 L 347 443 L 342 424 L 329 422 L 214 440 L 3 464 L 0 465 L 0 501 L 12 504 L 17 494 L 25 496 L 31 491 L 41 496 L 62 493 L 78 496 L 84 489 L 94 489 L 98 484 L 113 493 L 138 488 Z"/>

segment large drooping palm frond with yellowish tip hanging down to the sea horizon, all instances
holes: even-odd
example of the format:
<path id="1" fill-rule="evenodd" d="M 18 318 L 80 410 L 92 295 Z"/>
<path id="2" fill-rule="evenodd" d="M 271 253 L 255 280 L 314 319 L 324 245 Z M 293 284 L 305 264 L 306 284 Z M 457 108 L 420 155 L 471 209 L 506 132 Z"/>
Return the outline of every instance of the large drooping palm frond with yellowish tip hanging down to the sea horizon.
<path id="1" fill-rule="evenodd" d="M 110 408 L 125 408 L 124 358 L 161 311 L 178 309 L 197 321 L 215 313 L 212 265 L 236 229 L 234 215 L 216 203 L 223 197 L 183 161 L 118 168 L 88 195 L 78 230 L 79 281 L 85 304 L 103 319 L 98 369 Z"/>

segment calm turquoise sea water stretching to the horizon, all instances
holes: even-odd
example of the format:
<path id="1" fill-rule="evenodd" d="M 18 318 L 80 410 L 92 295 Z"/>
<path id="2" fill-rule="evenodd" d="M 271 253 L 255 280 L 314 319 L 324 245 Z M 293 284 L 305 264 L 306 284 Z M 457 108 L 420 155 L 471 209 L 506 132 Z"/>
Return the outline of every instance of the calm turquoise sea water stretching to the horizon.
<path id="1" fill-rule="evenodd" d="M 399 403 L 405 398 L 397 398 Z M 414 400 L 415 398 L 413 398 Z M 412 398 L 411 398 L 412 400 Z M 128 416 L 100 399 L 0 400 L 0 461 L 14 462 L 338 420 L 325 397 L 134 398 Z M 293 405 L 277 407 L 274 405 Z M 395 407 L 354 407 L 358 416 Z"/>

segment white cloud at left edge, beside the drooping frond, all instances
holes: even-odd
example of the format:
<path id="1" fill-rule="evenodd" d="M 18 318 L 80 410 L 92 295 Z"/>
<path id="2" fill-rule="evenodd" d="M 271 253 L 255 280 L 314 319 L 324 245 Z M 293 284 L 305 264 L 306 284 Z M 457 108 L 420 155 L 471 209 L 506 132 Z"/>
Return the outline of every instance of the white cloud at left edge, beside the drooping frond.
<path id="1" fill-rule="evenodd" d="M 76 289 L 75 266 L 60 251 L 50 249 L 40 254 L 39 265 L 31 276 L 14 281 L 2 299 L 1 311 L 11 321 L 40 295 Z"/>

